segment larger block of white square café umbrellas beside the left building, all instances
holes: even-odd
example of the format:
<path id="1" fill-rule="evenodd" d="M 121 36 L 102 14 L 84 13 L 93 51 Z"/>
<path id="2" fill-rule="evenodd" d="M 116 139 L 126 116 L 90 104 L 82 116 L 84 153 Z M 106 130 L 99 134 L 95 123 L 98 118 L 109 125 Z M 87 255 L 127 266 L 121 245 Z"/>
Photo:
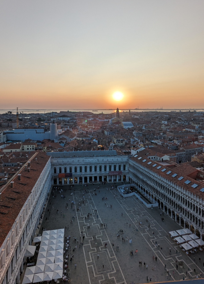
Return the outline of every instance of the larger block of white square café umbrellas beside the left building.
<path id="1" fill-rule="evenodd" d="M 22 284 L 42 281 L 57 282 L 63 278 L 64 229 L 44 230 L 42 236 L 34 238 L 41 242 L 36 265 L 26 268 Z"/>

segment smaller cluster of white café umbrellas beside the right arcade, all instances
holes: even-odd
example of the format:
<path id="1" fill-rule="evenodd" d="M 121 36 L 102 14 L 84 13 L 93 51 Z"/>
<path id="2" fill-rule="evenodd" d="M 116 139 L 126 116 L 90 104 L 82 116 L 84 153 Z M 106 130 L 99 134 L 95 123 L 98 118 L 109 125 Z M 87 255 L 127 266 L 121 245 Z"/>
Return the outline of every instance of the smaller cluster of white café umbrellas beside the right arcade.
<path id="1" fill-rule="evenodd" d="M 193 234 L 189 229 L 171 231 L 169 234 L 187 255 L 203 251 L 204 241 Z"/>

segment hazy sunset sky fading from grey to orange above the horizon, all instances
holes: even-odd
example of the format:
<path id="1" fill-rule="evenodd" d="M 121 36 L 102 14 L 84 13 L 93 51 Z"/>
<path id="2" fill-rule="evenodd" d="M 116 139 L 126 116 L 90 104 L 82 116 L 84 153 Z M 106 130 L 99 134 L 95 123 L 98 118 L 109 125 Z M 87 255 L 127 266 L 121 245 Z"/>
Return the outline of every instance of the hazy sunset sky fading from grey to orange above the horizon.
<path id="1" fill-rule="evenodd" d="M 203 108 L 203 11 L 203 0 L 1 0 L 0 109 Z"/>

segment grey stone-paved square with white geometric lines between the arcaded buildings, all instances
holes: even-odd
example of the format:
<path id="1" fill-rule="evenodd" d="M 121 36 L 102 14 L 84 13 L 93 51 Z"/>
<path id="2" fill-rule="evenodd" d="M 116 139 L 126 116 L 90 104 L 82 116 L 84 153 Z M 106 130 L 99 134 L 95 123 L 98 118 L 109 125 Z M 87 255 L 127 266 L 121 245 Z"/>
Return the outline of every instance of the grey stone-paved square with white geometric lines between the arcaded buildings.
<path id="1" fill-rule="evenodd" d="M 55 191 L 54 199 L 51 193 L 41 224 L 41 234 L 42 227 L 47 230 L 67 227 L 65 236 L 71 236 L 71 249 L 67 252 L 71 283 L 125 284 L 132 281 L 146 283 L 147 276 L 149 279 L 152 278 L 152 283 L 155 283 L 182 280 L 183 277 L 195 279 L 196 275 L 200 278 L 200 272 L 204 275 L 203 252 L 187 256 L 169 237 L 169 231 L 181 228 L 178 223 L 167 215 L 164 215 L 162 222 L 160 218 L 162 211 L 158 207 L 148 209 L 135 196 L 124 199 L 116 189 L 107 190 L 107 187 L 99 185 L 99 193 L 98 189 L 93 191 L 96 187 L 98 188 L 98 185 L 89 185 L 88 188 L 74 185 L 74 189 L 71 189 L 68 185 L 64 185 L 62 188 L 65 199 L 61 198 L 59 191 Z M 102 200 L 102 197 L 107 199 Z M 69 198 L 75 202 L 72 208 Z M 66 209 L 67 202 L 68 209 Z M 81 208 L 78 210 L 79 202 Z M 112 207 L 107 207 L 107 204 Z M 87 217 L 88 213 L 92 215 Z M 142 225 L 139 225 L 140 222 Z M 90 226 L 90 229 L 87 226 Z M 132 243 L 129 243 L 130 238 Z M 105 248 L 106 243 L 107 248 Z M 136 249 L 137 254 L 135 254 Z M 133 250 L 132 256 L 131 250 Z M 99 259 L 97 259 L 98 253 Z M 71 254 L 74 254 L 72 262 L 70 262 Z M 141 266 L 139 262 L 142 262 Z M 74 269 L 75 263 L 76 269 Z"/>

